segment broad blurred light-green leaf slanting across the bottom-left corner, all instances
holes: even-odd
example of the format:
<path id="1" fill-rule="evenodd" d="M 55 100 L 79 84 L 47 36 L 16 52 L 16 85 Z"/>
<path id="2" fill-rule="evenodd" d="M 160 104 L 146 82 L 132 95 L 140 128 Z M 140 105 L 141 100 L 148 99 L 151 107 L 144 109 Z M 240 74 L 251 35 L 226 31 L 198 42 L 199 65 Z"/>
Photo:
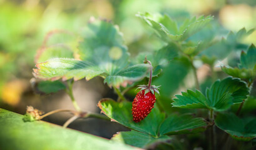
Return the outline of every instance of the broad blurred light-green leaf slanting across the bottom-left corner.
<path id="1" fill-rule="evenodd" d="M 0 109 L 0 149 L 135 149 Z"/>

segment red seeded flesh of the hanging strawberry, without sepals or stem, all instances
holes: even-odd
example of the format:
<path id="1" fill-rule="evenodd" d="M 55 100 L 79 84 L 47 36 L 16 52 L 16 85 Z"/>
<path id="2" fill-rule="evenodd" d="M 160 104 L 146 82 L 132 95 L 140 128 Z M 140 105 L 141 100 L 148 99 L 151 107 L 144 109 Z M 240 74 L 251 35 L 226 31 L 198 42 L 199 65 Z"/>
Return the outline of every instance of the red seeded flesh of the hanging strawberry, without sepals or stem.
<path id="1" fill-rule="evenodd" d="M 154 108 L 156 98 L 155 93 L 153 93 L 149 91 L 145 94 L 145 89 L 143 89 L 136 94 L 136 97 L 133 100 L 133 108 L 131 109 L 131 114 L 133 114 L 133 121 L 135 121 L 135 123 L 146 118 L 151 112 L 151 109 Z"/>

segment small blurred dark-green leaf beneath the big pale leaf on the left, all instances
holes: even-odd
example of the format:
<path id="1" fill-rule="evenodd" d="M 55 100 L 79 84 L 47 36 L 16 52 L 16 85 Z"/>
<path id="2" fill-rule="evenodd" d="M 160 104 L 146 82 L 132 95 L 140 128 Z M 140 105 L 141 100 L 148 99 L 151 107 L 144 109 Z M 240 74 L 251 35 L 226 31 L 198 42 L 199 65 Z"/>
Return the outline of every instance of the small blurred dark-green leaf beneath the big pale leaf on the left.
<path id="1" fill-rule="evenodd" d="M 66 86 L 61 81 L 41 81 L 38 83 L 38 90 L 45 94 L 56 93 L 61 89 L 66 89 Z"/>

